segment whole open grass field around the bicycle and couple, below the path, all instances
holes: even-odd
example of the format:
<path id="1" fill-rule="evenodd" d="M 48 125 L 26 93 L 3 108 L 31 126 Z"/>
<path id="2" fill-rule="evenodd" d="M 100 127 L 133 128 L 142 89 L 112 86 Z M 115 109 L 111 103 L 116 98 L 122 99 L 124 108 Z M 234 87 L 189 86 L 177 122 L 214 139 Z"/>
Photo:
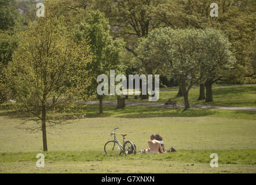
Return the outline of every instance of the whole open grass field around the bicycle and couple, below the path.
<path id="1" fill-rule="evenodd" d="M 41 132 L 16 128 L 20 120 L 0 111 L 1 173 L 256 173 L 255 112 L 217 109 L 90 105 L 85 119 L 47 128 L 49 152 L 45 167 L 36 167 L 42 153 Z M 177 153 L 109 157 L 104 144 L 110 132 L 127 134 L 137 150 L 147 148 L 149 135 L 160 134 Z M 210 154 L 219 167 L 210 168 Z"/>

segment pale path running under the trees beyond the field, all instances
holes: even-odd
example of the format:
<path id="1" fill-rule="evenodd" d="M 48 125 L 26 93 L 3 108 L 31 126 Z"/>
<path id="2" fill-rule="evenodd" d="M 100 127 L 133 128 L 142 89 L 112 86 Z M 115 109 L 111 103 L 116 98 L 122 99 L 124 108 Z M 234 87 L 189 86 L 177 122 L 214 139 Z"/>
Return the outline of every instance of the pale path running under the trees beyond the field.
<path id="1" fill-rule="evenodd" d="M 98 105 L 98 101 L 86 102 L 88 105 Z M 146 103 L 146 102 L 125 102 L 126 105 L 137 105 L 137 106 L 164 106 L 164 103 Z M 113 101 L 103 101 L 103 105 L 117 105 L 117 102 Z M 178 108 L 184 108 L 183 104 L 177 104 Z M 192 108 L 202 108 L 202 109 L 224 109 L 224 110 L 247 110 L 256 111 L 256 108 L 244 108 L 238 106 L 211 106 L 211 105 L 191 105 Z"/>

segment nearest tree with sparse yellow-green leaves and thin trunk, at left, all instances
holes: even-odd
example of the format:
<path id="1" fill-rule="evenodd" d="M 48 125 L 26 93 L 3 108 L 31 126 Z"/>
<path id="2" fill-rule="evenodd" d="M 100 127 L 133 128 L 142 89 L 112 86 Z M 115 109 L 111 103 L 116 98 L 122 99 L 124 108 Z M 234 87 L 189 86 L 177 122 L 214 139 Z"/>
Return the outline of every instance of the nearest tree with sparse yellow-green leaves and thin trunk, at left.
<path id="1" fill-rule="evenodd" d="M 75 101 L 88 98 L 91 77 L 86 66 L 90 62 L 86 40 L 73 42 L 63 18 L 52 16 L 47 8 L 45 17 L 21 33 L 1 90 L 16 99 L 13 108 L 27 114 L 25 121 L 36 121 L 30 129 L 42 129 L 43 151 L 47 151 L 46 126 L 66 123 L 60 113 L 72 110 Z M 82 114 L 84 110 L 79 109 L 75 116 Z"/>

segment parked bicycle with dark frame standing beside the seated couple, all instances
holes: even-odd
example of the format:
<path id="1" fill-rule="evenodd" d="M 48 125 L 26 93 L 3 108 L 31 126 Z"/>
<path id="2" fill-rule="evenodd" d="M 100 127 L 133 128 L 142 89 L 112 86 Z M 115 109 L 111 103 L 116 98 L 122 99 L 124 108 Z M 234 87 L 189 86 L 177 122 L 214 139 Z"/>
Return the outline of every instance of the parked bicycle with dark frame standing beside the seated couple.
<path id="1" fill-rule="evenodd" d="M 123 136 L 123 145 L 118 141 L 116 138 L 115 130 L 118 128 L 114 128 L 111 131 L 110 136 L 114 135 L 113 140 L 109 140 L 107 143 L 105 143 L 104 151 L 108 156 L 118 156 L 122 153 L 124 153 L 126 156 L 127 154 L 136 154 L 136 146 L 130 141 L 125 140 L 125 136 L 127 134 L 121 134 Z"/>

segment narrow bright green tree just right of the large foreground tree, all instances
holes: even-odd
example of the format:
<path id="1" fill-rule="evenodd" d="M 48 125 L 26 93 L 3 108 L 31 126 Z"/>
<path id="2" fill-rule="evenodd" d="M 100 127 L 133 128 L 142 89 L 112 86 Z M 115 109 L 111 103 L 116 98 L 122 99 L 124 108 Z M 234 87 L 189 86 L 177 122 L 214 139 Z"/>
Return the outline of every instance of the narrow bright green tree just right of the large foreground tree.
<path id="1" fill-rule="evenodd" d="M 90 11 L 86 20 L 76 25 L 76 39 L 86 38 L 93 53 L 93 62 L 89 69 L 93 73 L 92 89 L 97 90 L 97 76 L 101 74 L 109 75 L 111 69 L 116 73 L 122 66 L 121 51 L 125 43 L 122 39 L 113 39 L 110 35 L 110 27 L 104 14 L 99 10 Z M 103 113 L 103 95 L 98 96 L 100 100 L 100 113 Z"/>

